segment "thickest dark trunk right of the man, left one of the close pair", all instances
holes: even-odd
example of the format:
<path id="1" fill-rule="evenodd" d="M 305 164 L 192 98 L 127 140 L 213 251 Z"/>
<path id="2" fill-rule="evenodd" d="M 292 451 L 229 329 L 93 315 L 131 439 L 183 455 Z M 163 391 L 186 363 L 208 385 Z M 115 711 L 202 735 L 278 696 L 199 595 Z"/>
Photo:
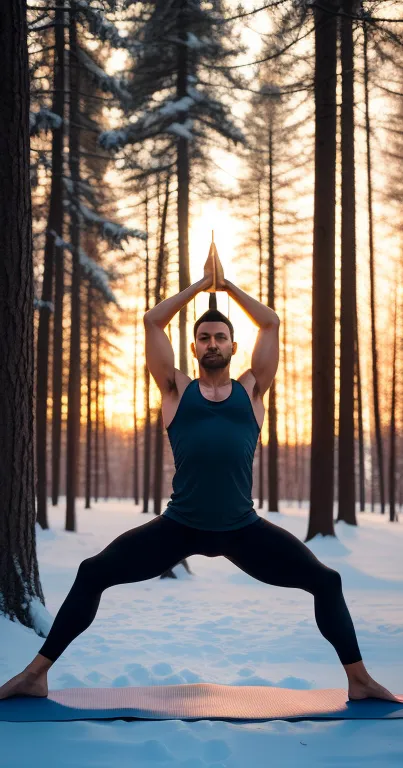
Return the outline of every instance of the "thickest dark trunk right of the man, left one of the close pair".
<path id="1" fill-rule="evenodd" d="M 332 0 L 323 8 L 334 11 Z M 334 536 L 335 176 L 337 17 L 315 18 L 315 200 L 312 275 L 312 439 L 306 541 Z"/>

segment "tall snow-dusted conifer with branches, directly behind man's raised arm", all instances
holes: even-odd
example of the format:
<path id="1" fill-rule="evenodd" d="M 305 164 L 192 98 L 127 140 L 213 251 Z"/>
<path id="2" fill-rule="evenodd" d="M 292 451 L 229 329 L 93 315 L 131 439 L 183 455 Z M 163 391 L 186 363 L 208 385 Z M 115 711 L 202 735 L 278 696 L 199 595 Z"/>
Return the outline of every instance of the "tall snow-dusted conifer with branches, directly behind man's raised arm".
<path id="1" fill-rule="evenodd" d="M 127 0 L 130 5 L 139 5 Z M 132 45 L 132 102 L 136 120 L 100 137 L 105 148 L 118 150 L 129 144 L 136 152 L 125 161 L 139 167 L 138 147 L 148 156 L 150 173 L 168 168 L 177 176 L 177 234 L 179 290 L 190 283 L 188 228 L 192 176 L 201 170 L 198 192 L 211 191 L 208 169 L 211 147 L 219 137 L 226 143 L 242 142 L 243 134 L 229 110 L 229 99 L 220 86 L 240 83 L 225 69 L 241 50 L 231 24 L 217 24 L 227 14 L 223 0 L 165 0 L 141 4 Z M 162 97 L 162 98 L 161 98 Z M 126 109 L 126 112 L 128 110 Z M 143 169 L 139 168 L 142 172 Z M 188 373 L 187 306 L 179 312 L 179 367 Z"/>

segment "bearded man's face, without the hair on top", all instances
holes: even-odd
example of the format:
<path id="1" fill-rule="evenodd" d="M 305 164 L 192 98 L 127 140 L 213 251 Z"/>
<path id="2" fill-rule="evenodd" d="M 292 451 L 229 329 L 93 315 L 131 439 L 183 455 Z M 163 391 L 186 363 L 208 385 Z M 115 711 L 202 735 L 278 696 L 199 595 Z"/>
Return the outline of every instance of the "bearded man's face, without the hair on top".
<path id="1" fill-rule="evenodd" d="M 196 342 L 191 347 L 199 364 L 206 370 L 225 368 L 236 352 L 236 342 L 231 341 L 228 325 L 218 321 L 200 323 Z"/>

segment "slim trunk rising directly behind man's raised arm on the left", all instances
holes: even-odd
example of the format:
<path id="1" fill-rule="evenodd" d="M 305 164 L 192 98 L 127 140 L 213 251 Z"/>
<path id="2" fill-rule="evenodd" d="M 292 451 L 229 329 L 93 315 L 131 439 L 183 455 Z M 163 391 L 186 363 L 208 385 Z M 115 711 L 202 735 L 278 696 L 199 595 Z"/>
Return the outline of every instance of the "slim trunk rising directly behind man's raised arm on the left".
<path id="1" fill-rule="evenodd" d="M 178 13 L 178 37 L 187 40 L 187 0 L 175 0 L 179 8 Z M 178 45 L 178 79 L 176 96 L 183 99 L 187 96 L 188 76 L 188 49 L 187 45 Z M 185 122 L 185 114 L 179 119 Z M 177 176 L 178 176 L 178 251 L 179 251 L 179 291 L 184 291 L 190 285 L 189 267 L 189 148 L 188 139 L 178 139 L 177 150 Z M 211 295 L 211 294 L 210 294 Z M 188 348 L 187 348 L 187 305 L 179 310 L 179 368 L 188 374 Z"/>

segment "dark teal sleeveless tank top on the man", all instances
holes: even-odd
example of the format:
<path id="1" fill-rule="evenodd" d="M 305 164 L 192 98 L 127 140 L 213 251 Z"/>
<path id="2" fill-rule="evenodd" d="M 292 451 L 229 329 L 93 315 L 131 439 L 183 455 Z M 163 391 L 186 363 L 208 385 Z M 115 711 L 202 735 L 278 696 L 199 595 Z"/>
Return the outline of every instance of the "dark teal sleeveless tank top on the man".
<path id="1" fill-rule="evenodd" d="M 251 493 L 260 428 L 245 387 L 231 381 L 230 396 L 213 402 L 192 379 L 167 427 L 176 471 L 162 514 L 205 531 L 232 531 L 259 519 Z"/>

